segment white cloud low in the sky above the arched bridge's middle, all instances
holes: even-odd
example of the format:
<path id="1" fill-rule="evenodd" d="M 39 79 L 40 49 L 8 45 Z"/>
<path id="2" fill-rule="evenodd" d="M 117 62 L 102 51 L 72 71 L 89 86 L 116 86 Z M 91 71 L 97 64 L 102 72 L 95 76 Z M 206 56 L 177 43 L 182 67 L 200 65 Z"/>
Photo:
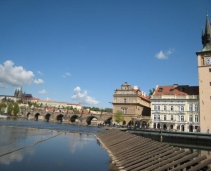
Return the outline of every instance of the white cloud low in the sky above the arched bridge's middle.
<path id="1" fill-rule="evenodd" d="M 78 102 L 81 102 L 82 104 L 97 105 L 99 103 L 93 97 L 88 96 L 87 91 L 84 91 L 83 93 L 81 93 L 80 87 L 76 87 L 74 89 L 73 94 L 74 95 L 71 98 L 74 100 L 77 100 Z"/>

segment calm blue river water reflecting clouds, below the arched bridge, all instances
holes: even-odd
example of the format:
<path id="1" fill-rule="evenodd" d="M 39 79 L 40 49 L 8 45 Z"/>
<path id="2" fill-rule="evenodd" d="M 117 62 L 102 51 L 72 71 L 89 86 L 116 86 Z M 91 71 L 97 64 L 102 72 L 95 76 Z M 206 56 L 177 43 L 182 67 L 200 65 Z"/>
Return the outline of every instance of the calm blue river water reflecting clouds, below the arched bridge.
<path id="1" fill-rule="evenodd" d="M 91 126 L 17 119 L 0 121 L 0 171 L 111 171 L 116 168 Z"/>

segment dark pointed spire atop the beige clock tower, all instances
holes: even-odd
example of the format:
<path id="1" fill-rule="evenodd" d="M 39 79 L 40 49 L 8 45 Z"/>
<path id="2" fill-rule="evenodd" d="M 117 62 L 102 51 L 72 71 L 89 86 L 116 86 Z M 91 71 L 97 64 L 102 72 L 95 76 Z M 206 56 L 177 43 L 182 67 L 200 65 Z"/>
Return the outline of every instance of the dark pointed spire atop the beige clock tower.
<path id="1" fill-rule="evenodd" d="M 208 13 L 206 16 L 205 30 L 202 32 L 202 51 L 211 50 L 211 26 L 208 17 Z"/>

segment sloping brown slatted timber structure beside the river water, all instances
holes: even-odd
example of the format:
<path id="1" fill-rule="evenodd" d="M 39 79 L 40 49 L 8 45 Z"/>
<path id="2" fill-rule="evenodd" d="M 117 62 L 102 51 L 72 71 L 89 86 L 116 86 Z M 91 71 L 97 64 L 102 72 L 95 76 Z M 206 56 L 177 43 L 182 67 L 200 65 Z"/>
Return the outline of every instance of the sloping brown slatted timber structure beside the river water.
<path id="1" fill-rule="evenodd" d="M 211 158 L 116 129 L 97 133 L 96 138 L 120 171 L 211 171 Z"/>

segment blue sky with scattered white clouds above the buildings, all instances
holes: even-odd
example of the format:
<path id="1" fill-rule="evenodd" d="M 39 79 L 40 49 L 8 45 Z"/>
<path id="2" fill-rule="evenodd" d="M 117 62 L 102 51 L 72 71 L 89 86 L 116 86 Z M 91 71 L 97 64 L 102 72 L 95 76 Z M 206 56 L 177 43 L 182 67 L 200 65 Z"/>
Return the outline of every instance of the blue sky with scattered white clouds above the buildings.
<path id="1" fill-rule="evenodd" d="M 124 82 L 198 85 L 206 12 L 210 0 L 1 0 L 0 94 L 106 108 Z"/>

